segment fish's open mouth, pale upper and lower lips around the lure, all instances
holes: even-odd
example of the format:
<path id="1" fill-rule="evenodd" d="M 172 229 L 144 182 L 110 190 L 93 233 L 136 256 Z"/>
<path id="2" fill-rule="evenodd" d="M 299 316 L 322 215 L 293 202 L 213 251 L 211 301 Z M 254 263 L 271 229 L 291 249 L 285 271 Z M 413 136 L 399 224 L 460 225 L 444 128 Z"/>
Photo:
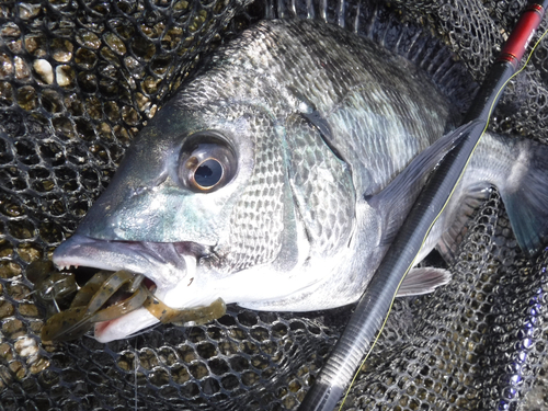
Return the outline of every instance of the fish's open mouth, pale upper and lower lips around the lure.
<path id="1" fill-rule="evenodd" d="M 53 261 L 61 270 L 76 266 L 142 274 L 147 288 L 162 300 L 181 283 L 192 282 L 196 261 L 205 253 L 203 246 L 192 242 L 111 241 L 73 235 L 55 250 Z M 114 320 L 98 322 L 94 336 L 99 342 L 121 340 L 158 322 L 141 307 Z"/>

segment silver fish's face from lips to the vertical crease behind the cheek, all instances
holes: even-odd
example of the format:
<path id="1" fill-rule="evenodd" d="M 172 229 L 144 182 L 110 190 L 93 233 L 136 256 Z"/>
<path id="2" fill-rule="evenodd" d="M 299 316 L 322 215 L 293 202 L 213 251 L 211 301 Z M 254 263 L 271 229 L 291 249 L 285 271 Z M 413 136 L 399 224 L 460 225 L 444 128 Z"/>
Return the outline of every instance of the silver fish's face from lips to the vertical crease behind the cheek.
<path id="1" fill-rule="evenodd" d="M 57 266 L 144 274 L 165 305 L 187 309 L 253 295 L 244 278 L 226 285 L 235 272 L 295 265 L 299 244 L 275 118 L 250 103 L 196 107 L 186 99 L 175 98 L 137 135 L 55 251 Z M 122 339 L 157 322 L 140 308 L 99 323 L 95 338 Z"/>

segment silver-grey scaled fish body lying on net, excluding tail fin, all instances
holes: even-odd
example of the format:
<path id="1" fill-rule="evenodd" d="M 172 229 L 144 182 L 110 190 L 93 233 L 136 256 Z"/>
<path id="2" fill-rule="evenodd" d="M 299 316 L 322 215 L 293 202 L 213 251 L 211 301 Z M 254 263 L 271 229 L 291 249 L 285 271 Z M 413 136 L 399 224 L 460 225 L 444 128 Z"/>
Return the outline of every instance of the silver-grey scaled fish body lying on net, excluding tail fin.
<path id="1" fill-rule="evenodd" d="M 353 302 L 454 144 L 434 141 L 456 125 L 410 61 L 320 22 L 262 22 L 139 133 L 54 262 L 142 273 L 173 308 L 218 297 L 260 310 Z M 447 251 L 469 192 L 521 189 L 532 145 L 486 136 L 422 255 Z M 157 321 L 139 309 L 95 336 Z"/>

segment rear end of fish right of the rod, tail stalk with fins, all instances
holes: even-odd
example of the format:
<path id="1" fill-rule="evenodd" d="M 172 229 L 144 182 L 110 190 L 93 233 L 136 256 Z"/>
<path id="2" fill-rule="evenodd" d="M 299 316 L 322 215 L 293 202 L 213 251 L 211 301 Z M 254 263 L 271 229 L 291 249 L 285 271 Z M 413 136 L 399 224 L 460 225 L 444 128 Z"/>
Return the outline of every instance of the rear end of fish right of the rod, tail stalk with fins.
<path id="1" fill-rule="evenodd" d="M 469 218 L 499 190 L 521 249 L 528 255 L 548 246 L 548 146 L 530 139 L 487 134 L 449 202 L 447 218 L 434 226 L 437 250 L 452 262 Z"/>

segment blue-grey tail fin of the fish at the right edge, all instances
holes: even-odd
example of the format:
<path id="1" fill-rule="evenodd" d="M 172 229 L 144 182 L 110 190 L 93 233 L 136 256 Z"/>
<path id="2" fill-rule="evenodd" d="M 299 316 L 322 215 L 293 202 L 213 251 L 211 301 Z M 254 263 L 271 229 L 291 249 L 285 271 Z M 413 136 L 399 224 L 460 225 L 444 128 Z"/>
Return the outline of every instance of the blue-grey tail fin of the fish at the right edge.
<path id="1" fill-rule="evenodd" d="M 495 184 L 522 250 L 538 253 L 548 241 L 548 146 L 517 140 L 511 172 Z"/>

